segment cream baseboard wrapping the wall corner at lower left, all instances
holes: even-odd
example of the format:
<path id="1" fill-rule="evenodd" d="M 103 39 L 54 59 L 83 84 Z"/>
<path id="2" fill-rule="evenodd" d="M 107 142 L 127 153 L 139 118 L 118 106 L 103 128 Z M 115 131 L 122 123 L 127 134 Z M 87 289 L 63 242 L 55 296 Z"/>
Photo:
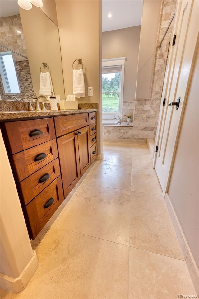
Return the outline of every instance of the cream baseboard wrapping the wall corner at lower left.
<path id="1" fill-rule="evenodd" d="M 15 294 L 23 291 L 27 286 L 28 282 L 32 278 L 33 274 L 38 268 L 38 259 L 35 250 L 33 250 L 33 257 L 27 264 L 22 273 L 17 277 L 13 278 L 5 274 L 0 274 L 0 286 Z"/>

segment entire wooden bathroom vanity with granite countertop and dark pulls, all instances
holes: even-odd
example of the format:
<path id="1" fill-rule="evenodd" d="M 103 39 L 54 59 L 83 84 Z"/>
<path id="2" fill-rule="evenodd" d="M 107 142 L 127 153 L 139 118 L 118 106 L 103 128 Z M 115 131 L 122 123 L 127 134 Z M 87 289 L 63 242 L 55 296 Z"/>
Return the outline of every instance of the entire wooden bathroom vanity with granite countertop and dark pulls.
<path id="1" fill-rule="evenodd" d="M 30 238 L 35 239 L 95 160 L 96 111 L 1 113 L 2 135 Z"/>

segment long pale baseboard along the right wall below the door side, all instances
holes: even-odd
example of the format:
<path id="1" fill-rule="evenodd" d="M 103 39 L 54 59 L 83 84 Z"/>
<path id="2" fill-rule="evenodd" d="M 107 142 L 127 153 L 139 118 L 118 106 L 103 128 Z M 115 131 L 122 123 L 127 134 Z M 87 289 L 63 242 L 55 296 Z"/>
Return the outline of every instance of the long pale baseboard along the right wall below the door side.
<path id="1" fill-rule="evenodd" d="M 190 249 L 187 239 L 183 233 L 182 227 L 181 227 L 178 217 L 174 211 L 174 207 L 170 201 L 168 193 L 165 194 L 164 201 L 167 206 L 167 210 L 169 212 L 169 216 L 171 218 L 172 224 L 174 226 L 174 230 L 175 230 L 176 236 L 178 238 L 178 242 L 180 244 L 184 259 L 186 261 L 187 268 L 189 270 L 189 274 L 191 276 L 193 285 L 196 289 L 197 296 L 199 297 L 199 271 L 198 271 L 196 262 L 193 258 L 191 249 Z"/>

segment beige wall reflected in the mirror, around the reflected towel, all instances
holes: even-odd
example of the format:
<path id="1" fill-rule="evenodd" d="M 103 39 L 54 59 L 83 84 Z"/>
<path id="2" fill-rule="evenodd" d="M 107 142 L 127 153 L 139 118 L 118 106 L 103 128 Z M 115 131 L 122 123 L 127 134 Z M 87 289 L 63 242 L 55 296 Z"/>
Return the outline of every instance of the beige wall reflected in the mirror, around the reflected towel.
<path id="1" fill-rule="evenodd" d="M 42 62 L 46 62 L 50 68 L 55 95 L 65 99 L 58 27 L 34 5 L 30 10 L 20 8 L 20 16 L 34 92 L 39 95 L 39 68 L 44 71 Z"/>

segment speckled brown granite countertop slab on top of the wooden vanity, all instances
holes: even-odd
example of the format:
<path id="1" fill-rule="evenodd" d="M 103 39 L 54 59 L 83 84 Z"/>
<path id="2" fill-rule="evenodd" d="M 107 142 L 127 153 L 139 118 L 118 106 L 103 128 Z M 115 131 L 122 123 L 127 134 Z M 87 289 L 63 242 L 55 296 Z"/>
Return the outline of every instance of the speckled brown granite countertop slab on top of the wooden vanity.
<path id="1" fill-rule="evenodd" d="M 78 110 L 46 110 L 46 111 L 1 111 L 0 119 L 11 120 L 11 119 L 24 119 L 24 118 L 39 118 L 47 116 L 60 116 L 67 114 L 95 112 L 98 109 L 78 109 Z"/>

